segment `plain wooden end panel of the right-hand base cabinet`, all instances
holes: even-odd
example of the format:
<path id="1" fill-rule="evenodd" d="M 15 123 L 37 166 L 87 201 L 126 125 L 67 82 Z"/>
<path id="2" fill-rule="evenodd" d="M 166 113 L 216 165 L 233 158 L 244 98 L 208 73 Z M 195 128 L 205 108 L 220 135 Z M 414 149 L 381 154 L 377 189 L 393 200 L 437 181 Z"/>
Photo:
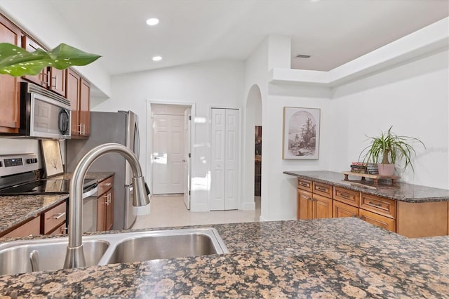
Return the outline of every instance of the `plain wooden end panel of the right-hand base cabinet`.
<path id="1" fill-rule="evenodd" d="M 448 202 L 398 201 L 397 232 L 409 238 L 448 234 Z"/>

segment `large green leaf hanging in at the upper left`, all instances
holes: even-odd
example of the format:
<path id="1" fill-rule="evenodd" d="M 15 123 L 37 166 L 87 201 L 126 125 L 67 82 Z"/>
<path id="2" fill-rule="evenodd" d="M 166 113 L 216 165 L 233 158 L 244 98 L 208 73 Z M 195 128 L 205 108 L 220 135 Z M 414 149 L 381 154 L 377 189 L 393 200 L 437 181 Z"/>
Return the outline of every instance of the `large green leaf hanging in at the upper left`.
<path id="1" fill-rule="evenodd" d="M 13 44 L 0 43 L 0 74 L 13 77 L 36 75 L 43 67 L 67 69 L 74 65 L 88 65 L 100 57 L 67 44 L 60 44 L 48 52 L 37 49 L 30 53 Z"/>

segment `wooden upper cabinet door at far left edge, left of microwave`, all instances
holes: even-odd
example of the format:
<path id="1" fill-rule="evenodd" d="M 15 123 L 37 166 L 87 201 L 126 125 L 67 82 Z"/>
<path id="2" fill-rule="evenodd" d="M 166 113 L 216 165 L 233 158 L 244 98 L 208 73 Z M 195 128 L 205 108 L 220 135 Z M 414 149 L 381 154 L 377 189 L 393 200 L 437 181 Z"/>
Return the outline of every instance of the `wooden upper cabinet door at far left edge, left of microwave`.
<path id="1" fill-rule="evenodd" d="M 0 42 L 21 46 L 22 32 L 0 15 Z M 18 133 L 20 127 L 20 78 L 0 74 L 0 132 Z"/>

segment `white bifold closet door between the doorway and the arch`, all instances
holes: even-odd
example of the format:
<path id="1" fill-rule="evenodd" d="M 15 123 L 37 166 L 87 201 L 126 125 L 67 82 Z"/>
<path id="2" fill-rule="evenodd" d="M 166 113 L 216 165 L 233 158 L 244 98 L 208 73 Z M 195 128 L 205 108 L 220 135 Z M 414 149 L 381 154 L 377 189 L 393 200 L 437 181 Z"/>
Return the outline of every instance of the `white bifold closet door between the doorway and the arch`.
<path id="1" fill-rule="evenodd" d="M 210 210 L 239 208 L 239 110 L 212 109 Z"/>

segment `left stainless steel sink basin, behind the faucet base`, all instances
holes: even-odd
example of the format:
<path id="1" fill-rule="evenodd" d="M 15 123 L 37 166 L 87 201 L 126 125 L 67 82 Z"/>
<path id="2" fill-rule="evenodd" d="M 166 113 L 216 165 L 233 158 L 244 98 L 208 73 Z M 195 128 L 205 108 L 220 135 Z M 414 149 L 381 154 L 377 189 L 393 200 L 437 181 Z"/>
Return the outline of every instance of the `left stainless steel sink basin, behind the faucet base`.
<path id="1" fill-rule="evenodd" d="M 29 254 L 36 250 L 39 253 L 39 270 L 60 270 L 64 266 L 65 251 L 68 239 L 42 239 L 31 241 L 15 241 L 0 246 L 0 274 L 12 275 L 32 272 Z M 97 265 L 106 252 L 109 244 L 102 240 L 86 240 L 83 242 L 86 266 Z"/>

